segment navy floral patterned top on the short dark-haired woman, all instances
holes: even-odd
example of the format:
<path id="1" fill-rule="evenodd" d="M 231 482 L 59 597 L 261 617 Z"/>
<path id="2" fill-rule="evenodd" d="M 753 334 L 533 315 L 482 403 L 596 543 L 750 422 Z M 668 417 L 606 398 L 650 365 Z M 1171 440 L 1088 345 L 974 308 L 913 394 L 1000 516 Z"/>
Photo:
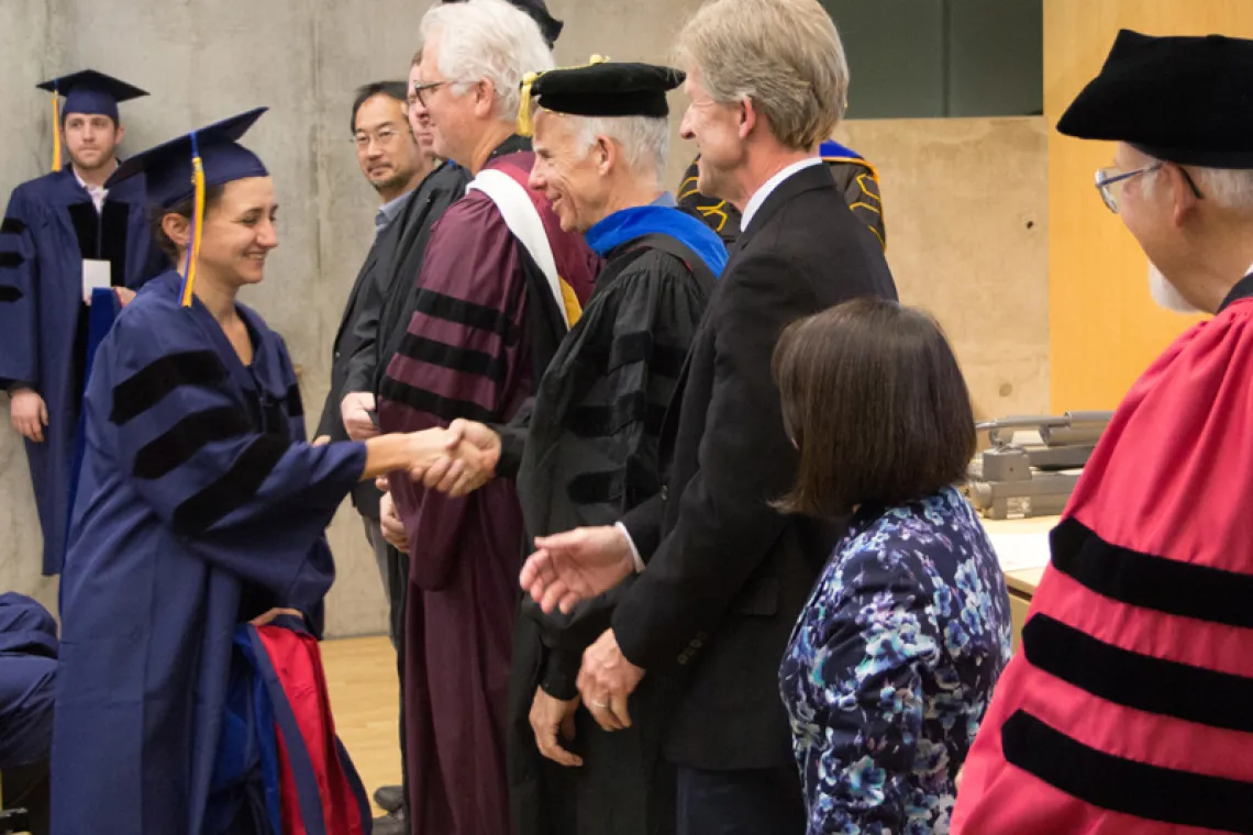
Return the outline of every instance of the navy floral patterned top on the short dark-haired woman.
<path id="1" fill-rule="evenodd" d="M 779 670 L 807 835 L 947 832 L 1009 655 L 1005 577 L 956 489 L 855 516 Z"/>

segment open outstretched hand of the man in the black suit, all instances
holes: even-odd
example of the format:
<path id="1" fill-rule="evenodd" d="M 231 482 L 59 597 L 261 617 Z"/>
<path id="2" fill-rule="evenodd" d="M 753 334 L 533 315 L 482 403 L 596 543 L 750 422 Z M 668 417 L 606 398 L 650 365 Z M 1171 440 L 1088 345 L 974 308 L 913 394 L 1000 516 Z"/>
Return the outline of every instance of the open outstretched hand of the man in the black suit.
<path id="1" fill-rule="evenodd" d="M 580 601 L 609 591 L 635 571 L 630 543 L 616 527 L 536 537 L 535 548 L 520 582 L 546 613 L 560 607 L 569 615 Z"/>

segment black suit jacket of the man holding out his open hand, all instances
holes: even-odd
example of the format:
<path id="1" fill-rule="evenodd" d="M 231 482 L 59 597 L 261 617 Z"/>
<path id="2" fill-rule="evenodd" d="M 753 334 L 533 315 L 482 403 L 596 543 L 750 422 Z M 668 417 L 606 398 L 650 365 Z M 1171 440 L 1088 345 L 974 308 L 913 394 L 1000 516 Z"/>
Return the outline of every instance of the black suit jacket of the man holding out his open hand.
<path id="1" fill-rule="evenodd" d="M 677 677 L 663 744 L 678 765 L 793 762 L 778 667 L 837 528 L 771 507 L 797 471 L 771 357 L 787 324 L 860 295 L 896 298 L 883 249 L 826 166 L 803 169 L 733 249 L 665 418 L 665 487 L 623 520 L 648 570 L 614 632 Z"/>

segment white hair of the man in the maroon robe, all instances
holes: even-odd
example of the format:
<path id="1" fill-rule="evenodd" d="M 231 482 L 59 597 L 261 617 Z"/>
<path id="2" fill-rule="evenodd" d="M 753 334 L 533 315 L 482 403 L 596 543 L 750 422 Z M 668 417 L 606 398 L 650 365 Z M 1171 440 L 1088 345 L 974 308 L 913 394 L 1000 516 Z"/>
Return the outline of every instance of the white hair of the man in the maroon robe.
<path id="1" fill-rule="evenodd" d="M 496 116 L 516 121 L 523 76 L 553 69 L 539 25 L 505 0 L 469 0 L 434 6 L 422 18 L 424 45 L 440 39 L 440 73 L 459 93 L 490 80 L 496 89 Z"/>

